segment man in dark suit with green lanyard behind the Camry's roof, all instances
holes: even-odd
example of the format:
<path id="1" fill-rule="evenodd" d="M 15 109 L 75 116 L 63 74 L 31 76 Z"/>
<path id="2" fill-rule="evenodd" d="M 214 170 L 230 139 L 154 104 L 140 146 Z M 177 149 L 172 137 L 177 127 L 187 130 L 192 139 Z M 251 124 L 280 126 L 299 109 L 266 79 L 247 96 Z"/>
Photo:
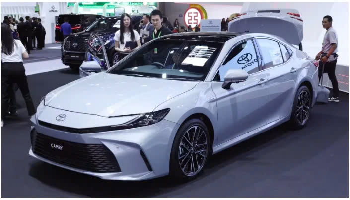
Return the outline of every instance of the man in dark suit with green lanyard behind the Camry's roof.
<path id="1" fill-rule="evenodd" d="M 168 28 L 162 25 L 163 14 L 160 12 L 160 10 L 153 10 L 150 14 L 150 17 L 151 17 L 151 22 L 154 26 L 154 31 L 152 34 L 149 34 L 149 37 L 147 38 L 147 40 L 145 39 L 144 42 L 148 42 L 155 38 L 172 33 Z"/>

